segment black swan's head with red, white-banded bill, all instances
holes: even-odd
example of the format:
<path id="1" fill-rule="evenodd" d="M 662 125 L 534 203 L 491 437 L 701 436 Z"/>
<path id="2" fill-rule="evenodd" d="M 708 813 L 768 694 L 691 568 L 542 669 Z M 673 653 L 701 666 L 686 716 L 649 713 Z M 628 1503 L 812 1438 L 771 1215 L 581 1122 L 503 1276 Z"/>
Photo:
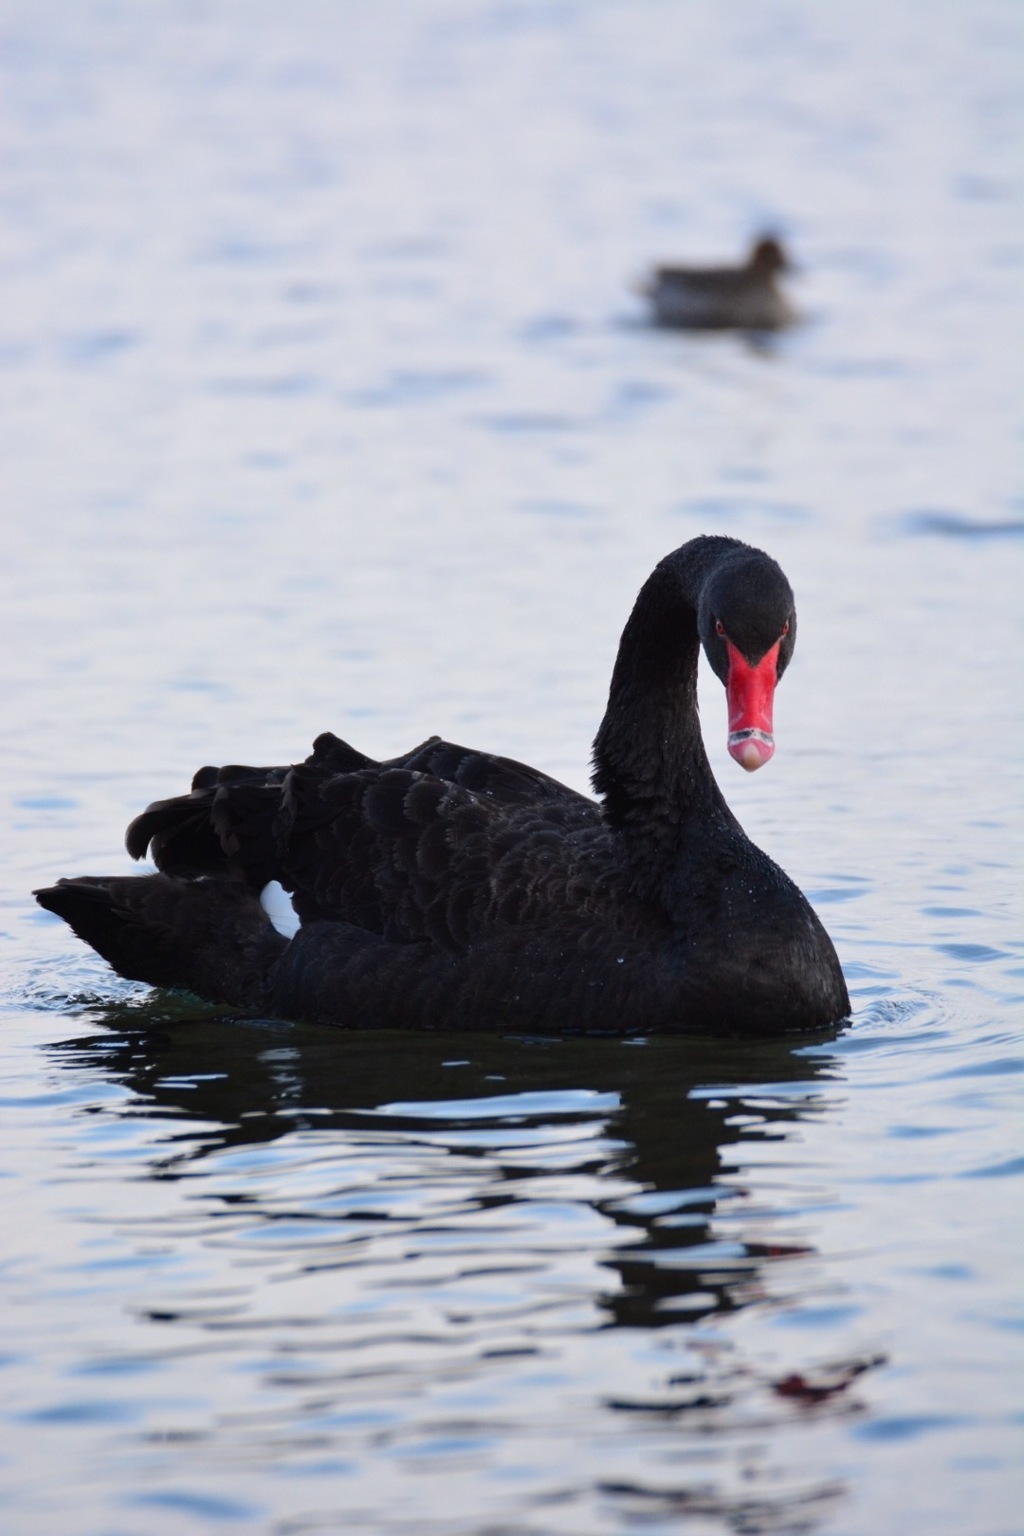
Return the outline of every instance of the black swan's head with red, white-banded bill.
<path id="1" fill-rule="evenodd" d="M 775 684 L 797 639 L 792 587 L 771 556 L 737 548 L 705 584 L 697 624 L 705 654 L 725 684 L 729 756 L 754 773 L 775 751 Z"/>

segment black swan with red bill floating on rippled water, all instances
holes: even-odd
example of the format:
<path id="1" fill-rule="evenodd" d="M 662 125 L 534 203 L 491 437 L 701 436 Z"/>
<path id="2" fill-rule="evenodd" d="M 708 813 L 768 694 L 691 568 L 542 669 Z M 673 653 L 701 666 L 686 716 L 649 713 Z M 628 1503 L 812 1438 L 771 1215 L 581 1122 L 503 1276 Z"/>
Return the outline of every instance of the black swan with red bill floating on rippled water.
<path id="1" fill-rule="evenodd" d="M 806 899 L 712 777 L 697 656 L 729 751 L 774 750 L 797 616 L 760 550 L 697 538 L 645 582 L 594 740 L 599 803 L 439 737 L 373 762 L 318 737 L 289 768 L 201 768 L 127 829 L 150 876 L 37 891 L 121 972 L 213 1003 L 350 1028 L 768 1035 L 849 997 Z M 273 928 L 279 880 L 301 926 Z"/>

